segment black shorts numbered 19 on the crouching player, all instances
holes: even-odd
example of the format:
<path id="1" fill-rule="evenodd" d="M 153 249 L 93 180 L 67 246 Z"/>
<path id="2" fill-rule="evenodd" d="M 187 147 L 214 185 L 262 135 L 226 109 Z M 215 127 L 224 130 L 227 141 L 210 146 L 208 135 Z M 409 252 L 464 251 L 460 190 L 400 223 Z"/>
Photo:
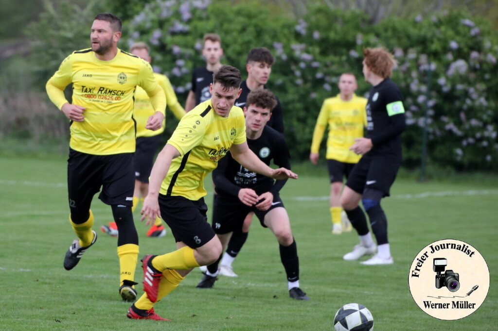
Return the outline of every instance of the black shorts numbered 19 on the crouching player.
<path id="1" fill-rule="evenodd" d="M 264 216 L 277 207 L 284 207 L 279 195 L 273 196 L 270 208 L 259 210 L 254 206 L 249 207 L 243 204 L 237 197 L 217 194 L 213 200 L 213 223 L 211 227 L 219 235 L 240 230 L 249 212 L 254 212 L 261 226 L 267 228 L 264 225 Z"/>

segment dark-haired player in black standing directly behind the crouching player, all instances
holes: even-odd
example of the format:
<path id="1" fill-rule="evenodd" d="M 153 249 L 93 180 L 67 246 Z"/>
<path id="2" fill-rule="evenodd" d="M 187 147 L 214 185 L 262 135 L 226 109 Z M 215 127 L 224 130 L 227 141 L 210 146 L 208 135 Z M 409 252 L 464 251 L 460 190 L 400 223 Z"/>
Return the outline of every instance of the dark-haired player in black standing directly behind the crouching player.
<path id="1" fill-rule="evenodd" d="M 246 81 L 242 81 L 241 83 L 242 92 L 239 98 L 235 101 L 236 106 L 244 107 L 246 105 L 246 100 L 250 91 L 267 89 L 265 84 L 268 82 L 268 78 L 270 77 L 273 62 L 275 62 L 275 59 L 271 55 L 270 51 L 265 47 L 252 48 L 249 51 L 246 63 L 248 79 Z M 277 104 L 275 108 L 273 108 L 271 117 L 266 125 L 283 134 L 282 106 L 276 96 L 275 99 Z M 224 276 L 237 277 L 237 274 L 232 269 L 232 262 L 246 243 L 249 227 L 252 222 L 252 214 L 253 213 L 249 213 L 246 221 L 244 222 L 243 228 L 235 231 L 230 239 L 227 251 L 223 255 L 223 259 L 220 264 L 220 274 Z"/>

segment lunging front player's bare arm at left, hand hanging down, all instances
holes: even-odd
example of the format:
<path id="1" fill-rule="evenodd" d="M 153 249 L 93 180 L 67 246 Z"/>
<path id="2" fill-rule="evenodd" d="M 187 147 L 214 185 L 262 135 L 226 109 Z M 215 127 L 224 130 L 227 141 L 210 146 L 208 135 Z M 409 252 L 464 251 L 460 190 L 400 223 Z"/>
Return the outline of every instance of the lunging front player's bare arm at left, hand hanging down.
<path id="1" fill-rule="evenodd" d="M 173 147 L 173 145 L 166 144 L 157 159 L 152 166 L 152 171 L 150 171 L 149 178 L 149 192 L 145 199 L 143 200 L 143 207 L 140 211 L 142 217 L 140 221 L 147 219 L 146 225 L 152 224 L 156 217 L 161 217 L 159 211 L 159 202 L 157 201 L 159 197 L 159 189 L 161 188 L 161 183 L 168 173 L 171 161 L 180 156 L 180 152 Z"/>

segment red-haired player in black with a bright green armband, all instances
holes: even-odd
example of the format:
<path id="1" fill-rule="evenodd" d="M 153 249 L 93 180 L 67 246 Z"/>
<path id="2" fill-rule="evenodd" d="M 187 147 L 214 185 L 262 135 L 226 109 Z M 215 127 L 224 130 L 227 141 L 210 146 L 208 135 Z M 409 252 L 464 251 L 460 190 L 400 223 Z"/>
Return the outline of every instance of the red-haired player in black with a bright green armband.
<path id="1" fill-rule="evenodd" d="M 403 96 L 390 80 L 394 57 L 384 48 L 363 51 L 363 75 L 373 85 L 367 103 L 367 137 L 355 139 L 351 150 L 363 157 L 351 171 L 341 197 L 341 204 L 360 236 L 360 244 L 344 255 L 356 260 L 373 254 L 375 244 L 369 232 L 363 207 L 369 215 L 377 241 L 377 254 L 362 264 L 393 263 L 387 240 L 387 220 L 380 199 L 389 196 L 389 189 L 401 165 L 401 133 L 405 129 Z"/>

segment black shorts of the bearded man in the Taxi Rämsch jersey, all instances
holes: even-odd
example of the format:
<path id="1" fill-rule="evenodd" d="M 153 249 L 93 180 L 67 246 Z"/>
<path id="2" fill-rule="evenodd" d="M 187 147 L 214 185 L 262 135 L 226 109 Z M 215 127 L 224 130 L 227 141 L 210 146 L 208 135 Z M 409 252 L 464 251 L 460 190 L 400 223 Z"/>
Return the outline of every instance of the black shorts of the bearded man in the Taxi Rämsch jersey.
<path id="1" fill-rule="evenodd" d="M 133 153 L 93 155 L 69 149 L 67 187 L 71 210 L 89 210 L 93 196 L 108 205 L 133 204 Z"/>

